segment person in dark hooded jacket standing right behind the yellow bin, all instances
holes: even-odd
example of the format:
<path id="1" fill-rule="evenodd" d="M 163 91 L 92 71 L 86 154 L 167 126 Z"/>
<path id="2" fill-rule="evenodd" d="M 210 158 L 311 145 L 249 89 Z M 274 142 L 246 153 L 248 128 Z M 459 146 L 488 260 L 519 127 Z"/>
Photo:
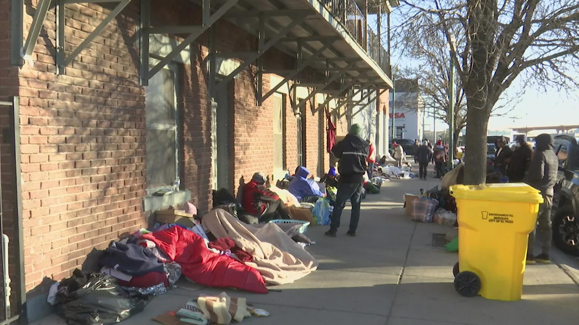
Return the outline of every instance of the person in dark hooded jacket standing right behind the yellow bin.
<path id="1" fill-rule="evenodd" d="M 543 251 L 537 256 L 533 256 L 535 242 L 535 232 L 529 234 L 529 246 L 527 248 L 527 264 L 534 264 L 535 261 L 550 264 L 549 251 L 551 250 L 551 208 L 553 206 L 553 187 L 557 179 L 557 169 L 559 160 L 553 152 L 551 135 L 540 134 L 535 138 L 537 152 L 529 164 L 529 175 L 526 183 L 541 191 L 543 203 L 539 206 L 537 216 L 538 230 L 543 241 Z"/>

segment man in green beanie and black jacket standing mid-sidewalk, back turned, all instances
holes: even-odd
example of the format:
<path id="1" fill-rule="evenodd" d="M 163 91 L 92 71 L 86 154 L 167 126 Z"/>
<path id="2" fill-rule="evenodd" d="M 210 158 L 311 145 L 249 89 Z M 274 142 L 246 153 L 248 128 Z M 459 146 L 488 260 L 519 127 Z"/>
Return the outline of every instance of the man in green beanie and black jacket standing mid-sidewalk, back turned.
<path id="1" fill-rule="evenodd" d="M 338 183 L 338 194 L 334 212 L 329 216 L 331 220 L 329 230 L 325 232 L 330 237 L 336 237 L 336 232 L 340 227 L 340 218 L 346 202 L 350 200 L 352 213 L 350 217 L 350 229 L 347 235 L 356 236 L 358 220 L 360 220 L 360 201 L 362 190 L 364 189 L 364 173 L 366 172 L 366 158 L 368 157 L 369 144 L 360 138 L 360 125 L 354 124 L 350 127 L 348 135 L 342 141 L 336 143 L 332 148 L 332 153 L 340 160 L 338 172 L 340 180 Z"/>

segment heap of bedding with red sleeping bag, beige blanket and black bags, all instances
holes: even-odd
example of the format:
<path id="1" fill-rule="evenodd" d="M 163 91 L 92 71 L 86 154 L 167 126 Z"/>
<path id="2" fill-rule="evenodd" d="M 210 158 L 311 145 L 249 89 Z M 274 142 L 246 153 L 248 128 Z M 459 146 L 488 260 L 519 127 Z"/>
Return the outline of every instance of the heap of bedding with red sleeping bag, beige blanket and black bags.
<path id="1" fill-rule="evenodd" d="M 312 243 L 295 225 L 245 224 L 227 209 L 212 210 L 193 227 L 157 224 L 112 242 L 98 251 L 94 271 L 76 270 L 55 283 L 47 301 L 67 322 L 114 324 L 142 311 L 148 297 L 165 293 L 181 275 L 200 285 L 265 294 L 266 285 L 291 283 L 317 268 L 292 239 Z M 247 314 L 245 306 L 240 311 Z"/>

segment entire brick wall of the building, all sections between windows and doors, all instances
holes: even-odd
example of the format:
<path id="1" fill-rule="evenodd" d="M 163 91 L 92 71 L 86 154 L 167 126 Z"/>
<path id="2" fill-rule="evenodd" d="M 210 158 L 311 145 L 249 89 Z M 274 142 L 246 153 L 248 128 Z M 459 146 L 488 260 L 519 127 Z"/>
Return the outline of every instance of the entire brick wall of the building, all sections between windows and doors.
<path id="1" fill-rule="evenodd" d="M 153 2 L 155 24 L 199 23 L 200 10 L 189 3 L 168 1 L 170 5 Z M 4 2 L 8 0 L 0 0 L 0 8 Z M 112 6 L 67 5 L 67 55 Z M 34 8 L 27 6 L 25 31 Z M 139 85 L 134 42 L 139 12 L 139 3 L 131 2 L 59 76 L 54 73 L 56 17 L 51 10 L 32 55 L 34 68 L 26 65 L 15 78 L 20 87 L 13 89 L 21 97 L 24 263 L 30 296 L 46 290 L 43 279 L 69 276 L 90 250 L 105 248 L 111 240 L 146 224 L 148 213 L 141 208 L 146 195 L 145 89 Z M 3 18 L 0 14 L 0 21 Z M 240 28 L 226 22 L 216 28 L 218 35 L 228 35 L 218 38 L 219 51 L 248 51 L 255 46 L 255 37 Z M 191 191 L 192 201 L 205 213 L 211 206 L 211 114 L 207 70 L 201 63 L 207 54 L 207 35 L 190 48 L 190 64 L 178 64 L 179 169 L 182 187 Z M 273 49 L 265 57 L 277 69 L 295 64 L 292 57 Z M 232 83 L 235 187 L 241 176 L 248 180 L 256 171 L 273 172 L 273 98 L 256 106 L 254 74 L 252 66 Z M 0 87 L 5 87 L 3 76 Z M 265 76 L 264 94 L 269 87 Z M 290 98 L 285 96 L 285 165 L 293 171 L 296 125 Z M 309 104 L 306 110 L 311 112 Z M 307 167 L 314 173 L 319 114 L 305 117 Z M 321 143 L 325 143 L 323 128 Z M 319 150 L 325 151 L 325 145 Z M 324 154 L 324 164 L 327 160 Z"/>

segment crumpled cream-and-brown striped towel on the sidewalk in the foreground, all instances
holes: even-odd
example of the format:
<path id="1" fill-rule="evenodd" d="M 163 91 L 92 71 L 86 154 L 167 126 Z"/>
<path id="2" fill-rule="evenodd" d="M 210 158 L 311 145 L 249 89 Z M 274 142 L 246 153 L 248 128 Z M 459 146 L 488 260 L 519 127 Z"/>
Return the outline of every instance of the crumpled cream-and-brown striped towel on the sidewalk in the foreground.
<path id="1" fill-rule="evenodd" d="M 217 297 L 201 295 L 197 298 L 197 304 L 203 311 L 203 317 L 217 324 L 228 325 L 232 319 L 241 322 L 244 317 L 251 317 L 245 298 L 229 297 L 224 292 Z"/>

